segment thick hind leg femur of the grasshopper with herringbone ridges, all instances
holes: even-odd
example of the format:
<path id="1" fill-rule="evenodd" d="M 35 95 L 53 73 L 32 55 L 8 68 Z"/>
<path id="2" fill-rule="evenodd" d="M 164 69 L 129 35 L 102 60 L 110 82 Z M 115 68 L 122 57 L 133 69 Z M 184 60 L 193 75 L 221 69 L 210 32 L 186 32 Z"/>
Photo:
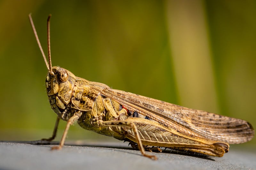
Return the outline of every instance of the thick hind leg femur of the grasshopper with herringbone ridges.
<path id="1" fill-rule="evenodd" d="M 204 140 L 181 134 L 178 131 L 166 128 L 160 123 L 140 118 L 130 118 L 135 123 L 144 145 L 158 146 L 165 148 L 190 150 L 212 156 L 223 156 L 228 152 L 228 144 L 218 143 L 217 141 Z M 123 128 L 127 134 L 126 138 L 136 140 L 134 131 L 127 127 Z"/>

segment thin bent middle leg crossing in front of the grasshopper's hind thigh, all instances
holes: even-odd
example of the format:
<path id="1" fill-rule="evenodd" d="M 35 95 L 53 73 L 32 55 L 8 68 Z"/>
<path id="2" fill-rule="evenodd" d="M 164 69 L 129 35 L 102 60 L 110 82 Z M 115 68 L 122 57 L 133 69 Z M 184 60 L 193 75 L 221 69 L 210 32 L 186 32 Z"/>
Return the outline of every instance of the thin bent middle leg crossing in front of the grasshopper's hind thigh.
<path id="1" fill-rule="evenodd" d="M 135 138 L 136 138 L 136 143 L 138 144 L 138 148 L 141 152 L 141 154 L 143 156 L 146 156 L 148 158 L 151 158 L 151 159 L 157 159 L 156 156 L 154 155 L 148 155 L 146 152 L 145 152 L 145 149 L 142 145 L 142 142 L 141 142 L 141 139 L 140 139 L 140 136 L 139 136 L 139 132 L 138 132 L 138 129 L 137 127 L 135 126 L 135 124 L 132 122 L 132 121 L 102 121 L 102 120 L 96 120 L 91 122 L 93 126 L 97 127 L 97 128 L 100 128 L 100 127 L 117 127 L 117 126 L 121 126 L 121 127 L 129 127 L 133 130 L 134 132 L 134 135 L 135 135 Z"/>

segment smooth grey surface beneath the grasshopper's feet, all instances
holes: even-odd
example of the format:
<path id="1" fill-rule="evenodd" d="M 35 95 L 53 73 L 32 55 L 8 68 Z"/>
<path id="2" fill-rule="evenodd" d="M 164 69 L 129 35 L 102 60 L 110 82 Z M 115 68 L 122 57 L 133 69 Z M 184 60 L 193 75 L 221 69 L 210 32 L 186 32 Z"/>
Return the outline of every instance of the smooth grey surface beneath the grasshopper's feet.
<path id="1" fill-rule="evenodd" d="M 248 151 L 231 147 L 222 158 L 166 150 L 150 153 L 158 157 L 154 161 L 122 142 L 83 146 L 67 143 L 70 145 L 59 151 L 51 151 L 52 145 L 32 143 L 0 142 L 0 169 L 256 169 L 255 148 Z"/>

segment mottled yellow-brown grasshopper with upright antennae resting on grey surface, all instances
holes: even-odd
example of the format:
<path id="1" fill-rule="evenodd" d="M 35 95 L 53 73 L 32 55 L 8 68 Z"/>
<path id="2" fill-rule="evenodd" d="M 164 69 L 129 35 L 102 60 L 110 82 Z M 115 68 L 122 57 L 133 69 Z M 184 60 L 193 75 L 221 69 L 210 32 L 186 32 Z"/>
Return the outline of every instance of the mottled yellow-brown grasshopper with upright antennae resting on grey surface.
<path id="1" fill-rule="evenodd" d="M 52 141 L 60 119 L 67 121 L 58 146 L 64 145 L 68 129 L 77 122 L 82 128 L 129 141 L 143 156 L 161 147 L 222 157 L 229 144 L 247 142 L 254 136 L 249 122 L 190 109 L 76 77 L 61 67 L 52 67 L 50 51 L 50 18 L 47 19 L 48 62 L 38 39 L 31 14 L 29 19 L 44 57 L 48 74 L 45 80 L 48 99 L 57 114 Z M 151 146 L 151 147 L 148 147 Z"/>

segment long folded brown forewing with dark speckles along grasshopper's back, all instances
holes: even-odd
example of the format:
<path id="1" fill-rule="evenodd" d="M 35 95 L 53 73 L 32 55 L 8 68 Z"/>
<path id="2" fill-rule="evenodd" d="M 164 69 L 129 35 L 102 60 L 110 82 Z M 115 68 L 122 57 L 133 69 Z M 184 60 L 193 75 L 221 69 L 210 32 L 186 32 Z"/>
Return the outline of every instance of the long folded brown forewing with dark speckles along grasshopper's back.
<path id="1" fill-rule="evenodd" d="M 131 111 L 194 137 L 239 144 L 254 136 L 252 125 L 241 119 L 190 109 L 121 90 L 107 88 L 101 93 Z"/>

